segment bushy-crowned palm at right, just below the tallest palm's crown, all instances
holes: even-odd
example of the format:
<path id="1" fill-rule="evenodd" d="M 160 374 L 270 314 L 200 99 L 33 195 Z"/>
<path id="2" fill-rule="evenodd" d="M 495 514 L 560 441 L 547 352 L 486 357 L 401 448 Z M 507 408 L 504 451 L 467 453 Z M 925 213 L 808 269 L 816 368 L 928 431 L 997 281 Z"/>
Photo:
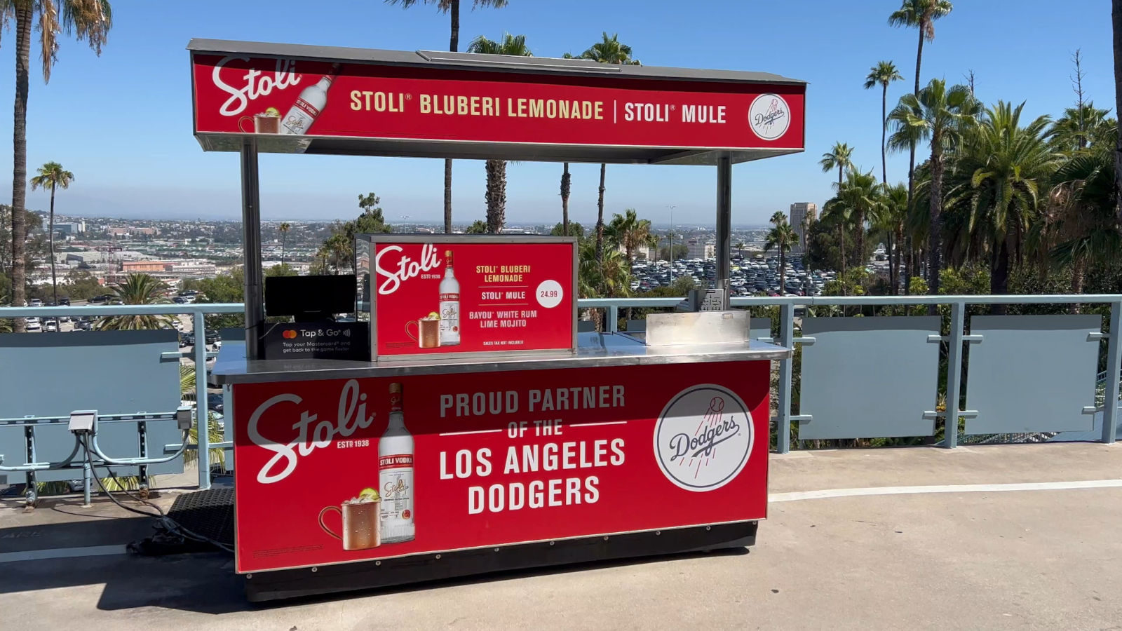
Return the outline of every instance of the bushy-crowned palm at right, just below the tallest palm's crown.
<path id="1" fill-rule="evenodd" d="M 927 236 L 927 277 L 931 295 L 939 293 L 942 256 L 944 153 L 958 145 L 963 130 L 976 122 L 980 109 L 969 88 L 954 85 L 947 89 L 945 81 L 932 79 L 919 94 L 901 97 L 900 104 L 889 115 L 889 119 L 895 125 L 895 131 L 889 139 L 889 148 L 903 150 L 920 140 L 928 140 L 931 146 L 931 217 Z"/>

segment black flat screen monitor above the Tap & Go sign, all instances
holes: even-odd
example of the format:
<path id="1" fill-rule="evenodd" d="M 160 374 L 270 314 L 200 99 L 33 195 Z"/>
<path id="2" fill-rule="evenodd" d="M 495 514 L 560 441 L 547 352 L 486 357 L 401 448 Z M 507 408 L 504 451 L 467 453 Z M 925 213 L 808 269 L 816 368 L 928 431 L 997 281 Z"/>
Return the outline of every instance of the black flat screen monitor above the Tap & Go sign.
<path id="1" fill-rule="evenodd" d="M 265 314 L 291 316 L 297 322 L 330 320 L 355 312 L 356 276 L 266 276 Z"/>

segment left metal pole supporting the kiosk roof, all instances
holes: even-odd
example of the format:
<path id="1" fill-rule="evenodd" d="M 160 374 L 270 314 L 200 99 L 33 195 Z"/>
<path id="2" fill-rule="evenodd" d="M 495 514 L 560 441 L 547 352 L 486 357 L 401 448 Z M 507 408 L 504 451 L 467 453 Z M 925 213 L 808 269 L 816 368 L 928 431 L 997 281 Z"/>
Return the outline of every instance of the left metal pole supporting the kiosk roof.
<path id="1" fill-rule="evenodd" d="M 261 281 L 261 200 L 257 180 L 257 140 L 241 141 L 241 244 L 246 277 L 246 359 L 260 359 L 265 332 Z"/>

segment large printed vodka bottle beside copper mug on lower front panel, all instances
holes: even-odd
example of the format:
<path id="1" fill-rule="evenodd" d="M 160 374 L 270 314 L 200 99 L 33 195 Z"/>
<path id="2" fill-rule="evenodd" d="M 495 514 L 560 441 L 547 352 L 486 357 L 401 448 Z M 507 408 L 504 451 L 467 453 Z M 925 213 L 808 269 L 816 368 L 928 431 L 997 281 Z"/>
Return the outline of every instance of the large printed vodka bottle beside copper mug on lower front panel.
<path id="1" fill-rule="evenodd" d="M 402 384 L 389 384 L 389 426 L 378 441 L 378 485 L 381 491 L 381 542 L 412 541 L 413 436 L 405 429 Z"/>

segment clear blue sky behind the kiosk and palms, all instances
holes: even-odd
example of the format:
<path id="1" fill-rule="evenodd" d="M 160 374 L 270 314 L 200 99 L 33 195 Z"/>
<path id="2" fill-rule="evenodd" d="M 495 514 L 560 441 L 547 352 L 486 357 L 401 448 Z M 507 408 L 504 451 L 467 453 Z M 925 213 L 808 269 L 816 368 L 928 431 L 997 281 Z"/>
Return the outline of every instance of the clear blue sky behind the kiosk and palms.
<path id="1" fill-rule="evenodd" d="M 470 4 L 470 0 L 463 0 Z M 100 58 L 65 39 L 48 85 L 33 75 L 28 116 L 28 171 L 61 162 L 76 181 L 58 198 L 61 213 L 151 218 L 221 217 L 240 212 L 238 157 L 203 153 L 191 136 L 185 46 L 192 37 L 397 49 L 445 49 L 448 17 L 432 7 L 403 10 L 380 0 L 310 2 L 272 0 L 163 2 L 113 0 L 114 26 Z M 238 7 L 231 10 L 230 7 Z M 526 35 L 534 54 L 579 53 L 600 31 L 619 33 L 647 65 L 753 70 L 810 82 L 807 152 L 734 168 L 733 221 L 763 223 L 791 202 L 821 204 L 831 175 L 818 159 L 834 141 L 856 147 L 855 162 L 880 173 L 880 91 L 864 90 L 871 65 L 892 60 L 905 81 L 890 89 L 891 103 L 910 90 L 914 30 L 891 28 L 895 0 L 511 0 L 505 9 L 466 10 L 461 49 L 472 37 L 503 31 Z M 958 0 L 925 46 L 922 80 L 963 81 L 973 70 L 986 103 L 1028 101 L 1032 116 L 1057 115 L 1074 101 L 1070 55 L 1083 49 L 1084 86 L 1098 107 L 1113 110 L 1113 67 L 1107 0 Z M 0 37 L 0 200 L 10 200 L 12 34 Z M 375 191 L 387 219 L 438 220 L 442 212 L 441 161 L 263 155 L 261 207 L 266 219 L 353 216 L 356 195 Z M 596 165 L 574 165 L 570 210 L 595 222 Z M 890 157 L 889 180 L 903 180 L 907 155 Z M 508 221 L 558 221 L 559 164 L 508 168 Z M 712 223 L 712 167 L 609 165 L 606 211 L 636 208 L 655 222 Z M 43 193 L 28 207 L 46 209 Z M 484 165 L 457 161 L 454 216 L 484 216 Z"/>

